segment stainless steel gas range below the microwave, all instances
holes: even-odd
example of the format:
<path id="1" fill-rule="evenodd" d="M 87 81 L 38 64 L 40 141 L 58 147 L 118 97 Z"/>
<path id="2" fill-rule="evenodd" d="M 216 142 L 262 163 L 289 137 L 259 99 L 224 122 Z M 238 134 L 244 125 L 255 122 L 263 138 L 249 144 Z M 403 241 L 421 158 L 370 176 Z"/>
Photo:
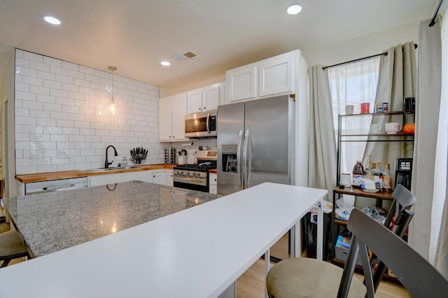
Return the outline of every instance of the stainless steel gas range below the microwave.
<path id="1" fill-rule="evenodd" d="M 216 150 L 199 150 L 197 164 L 179 164 L 173 169 L 174 187 L 209 192 L 209 170 L 216 169 Z"/>

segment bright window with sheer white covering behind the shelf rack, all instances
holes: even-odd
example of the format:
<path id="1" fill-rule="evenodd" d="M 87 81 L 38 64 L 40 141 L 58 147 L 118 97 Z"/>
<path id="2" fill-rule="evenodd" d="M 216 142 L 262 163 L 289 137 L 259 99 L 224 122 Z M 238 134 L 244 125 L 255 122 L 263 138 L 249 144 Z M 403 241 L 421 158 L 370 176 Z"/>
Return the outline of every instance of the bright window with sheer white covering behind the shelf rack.
<path id="1" fill-rule="evenodd" d="M 335 138 L 337 138 L 338 115 L 345 114 L 345 106 L 355 106 L 355 114 L 360 113 L 360 104 L 370 103 L 370 113 L 374 111 L 377 93 L 379 59 L 374 57 L 328 69 L 330 93 L 332 97 Z M 356 120 L 356 121 L 353 121 Z M 371 117 L 350 118 L 341 123 L 342 134 L 368 134 Z M 366 137 L 367 139 L 367 137 Z M 363 160 L 366 143 L 344 142 L 341 156 L 341 173 L 351 173 L 357 160 Z M 337 181 L 339 183 L 339 181 Z"/>

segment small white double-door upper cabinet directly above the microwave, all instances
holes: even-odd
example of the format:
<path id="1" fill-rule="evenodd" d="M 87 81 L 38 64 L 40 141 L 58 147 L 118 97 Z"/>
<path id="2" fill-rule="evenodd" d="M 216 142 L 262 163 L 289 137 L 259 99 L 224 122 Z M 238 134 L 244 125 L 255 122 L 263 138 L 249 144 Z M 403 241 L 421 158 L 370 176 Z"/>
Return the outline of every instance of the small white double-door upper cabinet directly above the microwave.
<path id="1" fill-rule="evenodd" d="M 221 83 L 187 92 L 188 113 L 207 112 L 218 108 Z"/>

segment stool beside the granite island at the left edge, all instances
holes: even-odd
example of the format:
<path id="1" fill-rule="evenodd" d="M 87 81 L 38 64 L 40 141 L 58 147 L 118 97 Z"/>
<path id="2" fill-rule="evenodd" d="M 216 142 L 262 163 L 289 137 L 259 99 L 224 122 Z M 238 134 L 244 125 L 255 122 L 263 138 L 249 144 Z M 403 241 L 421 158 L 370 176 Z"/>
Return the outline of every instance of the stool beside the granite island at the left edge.
<path id="1" fill-rule="evenodd" d="M 0 233 L 0 260 L 3 261 L 0 268 L 8 266 L 11 260 L 18 257 L 29 257 L 22 235 L 17 231 Z"/>

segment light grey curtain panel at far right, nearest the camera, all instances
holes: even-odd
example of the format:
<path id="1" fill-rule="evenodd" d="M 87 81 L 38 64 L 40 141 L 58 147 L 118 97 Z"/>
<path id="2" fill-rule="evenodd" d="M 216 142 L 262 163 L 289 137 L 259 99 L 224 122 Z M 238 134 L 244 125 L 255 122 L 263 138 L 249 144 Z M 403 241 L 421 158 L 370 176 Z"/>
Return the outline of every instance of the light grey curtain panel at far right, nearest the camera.
<path id="1" fill-rule="evenodd" d="M 417 199 L 414 205 L 414 220 L 409 226 L 409 243 L 423 257 L 430 260 L 431 239 L 437 234 L 433 227 L 440 227 L 433 218 L 433 197 L 435 194 L 435 152 L 439 113 L 444 118 L 446 111 L 440 111 L 441 89 L 441 41 L 440 22 L 428 27 L 430 20 L 419 27 L 419 82 L 416 97 L 416 122 L 414 164 L 412 167 L 412 192 Z M 440 133 L 440 132 L 439 132 Z M 446 149 L 446 148 L 445 148 Z M 444 163 L 446 165 L 446 162 Z M 437 199 L 436 199 L 437 201 Z M 433 239 L 434 242 L 434 239 Z"/>

